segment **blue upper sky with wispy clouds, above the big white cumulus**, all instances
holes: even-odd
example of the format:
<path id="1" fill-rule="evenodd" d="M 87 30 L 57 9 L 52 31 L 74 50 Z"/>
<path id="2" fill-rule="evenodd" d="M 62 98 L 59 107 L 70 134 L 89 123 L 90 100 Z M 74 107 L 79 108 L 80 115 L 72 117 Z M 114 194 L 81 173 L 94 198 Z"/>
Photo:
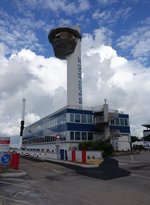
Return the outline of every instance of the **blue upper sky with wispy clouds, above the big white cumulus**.
<path id="1" fill-rule="evenodd" d="M 149 30 L 149 9 L 148 0 L 1 0 L 0 40 L 7 45 L 8 54 L 28 48 L 49 57 L 47 35 L 53 27 L 79 25 L 83 35 L 104 27 L 108 29 L 107 43 L 119 55 L 140 58 L 149 65 L 149 49 L 134 54 L 139 42 L 133 42 L 136 35 L 146 43 L 143 29 Z"/>

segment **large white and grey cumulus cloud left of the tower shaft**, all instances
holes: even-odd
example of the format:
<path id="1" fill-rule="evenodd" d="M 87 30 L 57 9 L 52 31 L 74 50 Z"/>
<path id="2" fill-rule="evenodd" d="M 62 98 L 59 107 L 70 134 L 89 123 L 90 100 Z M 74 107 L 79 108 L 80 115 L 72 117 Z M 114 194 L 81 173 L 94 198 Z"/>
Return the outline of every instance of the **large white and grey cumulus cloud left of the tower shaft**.
<path id="1" fill-rule="evenodd" d="M 13 136 L 19 133 L 22 98 L 26 98 L 27 124 L 58 108 L 55 95 L 59 106 L 65 105 L 60 99 L 66 95 L 66 62 L 25 49 L 6 58 L 2 44 L 0 48 L 0 132 Z"/>

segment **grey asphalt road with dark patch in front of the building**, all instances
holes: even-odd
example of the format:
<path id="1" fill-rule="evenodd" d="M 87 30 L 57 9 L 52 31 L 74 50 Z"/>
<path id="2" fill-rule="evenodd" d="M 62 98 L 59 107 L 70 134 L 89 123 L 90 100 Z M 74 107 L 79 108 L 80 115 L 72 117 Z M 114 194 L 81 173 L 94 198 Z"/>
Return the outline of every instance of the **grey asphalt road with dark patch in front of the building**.
<path id="1" fill-rule="evenodd" d="M 21 160 L 22 178 L 0 179 L 0 205 L 149 205 L 150 152 L 100 168 Z"/>

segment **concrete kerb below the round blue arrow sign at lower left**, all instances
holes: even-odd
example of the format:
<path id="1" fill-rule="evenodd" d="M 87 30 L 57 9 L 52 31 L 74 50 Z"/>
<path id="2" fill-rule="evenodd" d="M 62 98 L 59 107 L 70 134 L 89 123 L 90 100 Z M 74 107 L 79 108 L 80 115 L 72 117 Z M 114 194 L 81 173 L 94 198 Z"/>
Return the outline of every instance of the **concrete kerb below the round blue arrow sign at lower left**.
<path id="1" fill-rule="evenodd" d="M 6 170 L 3 172 L 0 172 L 0 178 L 17 178 L 17 177 L 23 177 L 26 176 L 27 173 L 22 170 Z"/>

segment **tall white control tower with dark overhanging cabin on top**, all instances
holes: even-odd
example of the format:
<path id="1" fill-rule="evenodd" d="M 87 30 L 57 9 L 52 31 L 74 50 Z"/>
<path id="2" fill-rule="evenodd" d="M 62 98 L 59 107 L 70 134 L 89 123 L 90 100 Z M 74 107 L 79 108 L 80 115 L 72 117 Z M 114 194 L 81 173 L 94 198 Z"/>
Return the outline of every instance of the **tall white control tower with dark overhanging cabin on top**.
<path id="1" fill-rule="evenodd" d="M 48 39 L 55 56 L 67 60 L 67 105 L 82 107 L 81 35 L 78 27 L 59 27 Z M 61 76 L 60 76 L 61 77 Z"/>

